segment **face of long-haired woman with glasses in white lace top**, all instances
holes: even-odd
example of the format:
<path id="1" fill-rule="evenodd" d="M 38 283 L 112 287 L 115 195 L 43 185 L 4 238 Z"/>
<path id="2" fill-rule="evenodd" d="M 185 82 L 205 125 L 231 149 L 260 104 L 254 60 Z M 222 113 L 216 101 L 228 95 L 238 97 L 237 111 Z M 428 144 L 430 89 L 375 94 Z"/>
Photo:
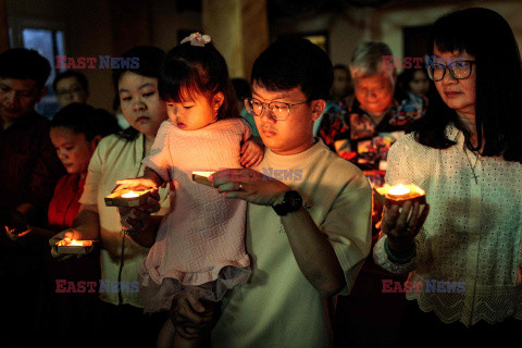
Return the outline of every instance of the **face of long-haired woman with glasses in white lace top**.
<path id="1" fill-rule="evenodd" d="M 464 60 L 474 61 L 475 58 L 465 52 L 442 52 L 435 46 L 434 53 L 437 57 L 446 59 L 458 58 Z M 451 76 L 448 70 L 444 74 L 442 80 L 435 82 L 435 87 L 437 88 L 440 98 L 448 105 L 448 108 L 453 109 L 461 113 L 475 113 L 475 87 L 476 87 L 476 65 L 472 65 L 471 75 L 464 79 L 456 79 Z"/>

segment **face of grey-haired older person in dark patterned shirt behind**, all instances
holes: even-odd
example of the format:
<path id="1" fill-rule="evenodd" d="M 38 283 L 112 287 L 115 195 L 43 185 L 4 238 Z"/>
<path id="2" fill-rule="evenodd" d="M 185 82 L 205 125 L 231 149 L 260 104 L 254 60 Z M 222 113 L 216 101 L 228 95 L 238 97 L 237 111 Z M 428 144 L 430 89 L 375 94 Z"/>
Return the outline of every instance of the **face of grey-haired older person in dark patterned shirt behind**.
<path id="1" fill-rule="evenodd" d="M 355 77 L 355 94 L 360 108 L 371 113 L 382 113 L 394 101 L 395 82 L 387 72 L 375 76 Z"/>

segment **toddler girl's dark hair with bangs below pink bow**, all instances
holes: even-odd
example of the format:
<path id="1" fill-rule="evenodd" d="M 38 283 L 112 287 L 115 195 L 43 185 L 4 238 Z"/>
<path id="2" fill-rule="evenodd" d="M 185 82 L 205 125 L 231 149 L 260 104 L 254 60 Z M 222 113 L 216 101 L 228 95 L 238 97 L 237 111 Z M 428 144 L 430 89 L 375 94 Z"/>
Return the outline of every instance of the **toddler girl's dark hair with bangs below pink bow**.
<path id="1" fill-rule="evenodd" d="M 188 41 L 170 50 L 161 65 L 159 89 L 161 99 L 174 102 L 194 100 L 199 94 L 210 100 L 221 91 L 224 100 L 217 120 L 239 117 L 225 59 L 211 42 L 200 47 Z"/>

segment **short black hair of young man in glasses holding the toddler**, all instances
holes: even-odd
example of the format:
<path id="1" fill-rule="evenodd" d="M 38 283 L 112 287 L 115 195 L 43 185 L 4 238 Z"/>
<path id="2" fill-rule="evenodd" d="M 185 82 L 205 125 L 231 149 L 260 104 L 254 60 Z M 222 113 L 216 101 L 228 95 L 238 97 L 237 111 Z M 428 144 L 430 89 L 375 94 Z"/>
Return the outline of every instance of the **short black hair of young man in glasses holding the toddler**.
<path id="1" fill-rule="evenodd" d="M 276 40 L 252 66 L 252 84 L 270 91 L 300 87 L 308 101 L 328 99 L 333 80 L 333 66 L 326 52 L 303 38 Z"/>

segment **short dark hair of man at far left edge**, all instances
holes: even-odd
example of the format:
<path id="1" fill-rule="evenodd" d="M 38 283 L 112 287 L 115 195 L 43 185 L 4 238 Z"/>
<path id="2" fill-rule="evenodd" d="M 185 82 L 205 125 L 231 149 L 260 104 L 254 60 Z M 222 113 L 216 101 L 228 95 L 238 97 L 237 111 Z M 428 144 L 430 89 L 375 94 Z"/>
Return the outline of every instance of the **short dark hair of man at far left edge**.
<path id="1" fill-rule="evenodd" d="M 1 78 L 33 79 L 41 89 L 50 73 L 49 61 L 35 50 L 12 48 L 0 54 Z"/>

